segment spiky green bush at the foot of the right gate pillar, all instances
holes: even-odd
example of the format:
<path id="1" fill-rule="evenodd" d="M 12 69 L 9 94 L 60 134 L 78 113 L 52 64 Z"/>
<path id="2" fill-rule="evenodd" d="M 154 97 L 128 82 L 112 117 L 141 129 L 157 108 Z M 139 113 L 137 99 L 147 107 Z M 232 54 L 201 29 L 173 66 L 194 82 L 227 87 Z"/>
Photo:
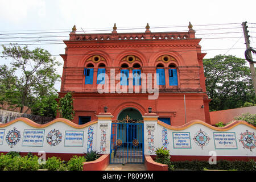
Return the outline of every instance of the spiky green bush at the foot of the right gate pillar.
<path id="1" fill-rule="evenodd" d="M 174 169 L 174 165 L 171 165 L 171 155 L 169 150 L 164 150 L 163 147 L 156 148 L 156 158 L 155 162 L 161 163 L 161 164 L 167 164 L 169 170 Z"/>

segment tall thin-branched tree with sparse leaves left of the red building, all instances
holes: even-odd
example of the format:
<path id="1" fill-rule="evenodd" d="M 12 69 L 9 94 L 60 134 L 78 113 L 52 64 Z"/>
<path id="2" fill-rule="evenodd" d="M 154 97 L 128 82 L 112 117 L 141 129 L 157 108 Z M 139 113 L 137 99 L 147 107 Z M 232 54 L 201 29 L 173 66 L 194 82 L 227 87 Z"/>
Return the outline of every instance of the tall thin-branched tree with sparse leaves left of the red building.
<path id="1" fill-rule="evenodd" d="M 36 102 L 56 93 L 54 85 L 60 75 L 55 67 L 60 63 L 52 58 L 51 53 L 42 48 L 30 51 L 27 46 L 22 48 L 12 44 L 2 47 L 2 57 L 12 60 L 10 68 L 0 66 L 2 102 L 20 107 L 22 113 L 24 106 L 31 109 Z"/>

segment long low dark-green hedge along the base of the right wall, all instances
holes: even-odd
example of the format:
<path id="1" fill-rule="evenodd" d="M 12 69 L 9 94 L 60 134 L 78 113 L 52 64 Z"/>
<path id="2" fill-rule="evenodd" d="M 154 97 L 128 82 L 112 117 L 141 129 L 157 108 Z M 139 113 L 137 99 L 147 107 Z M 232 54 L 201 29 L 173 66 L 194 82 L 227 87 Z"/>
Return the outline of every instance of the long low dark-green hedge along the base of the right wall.
<path id="1" fill-rule="evenodd" d="M 197 171 L 203 171 L 204 169 L 214 170 L 238 170 L 238 171 L 255 171 L 256 166 L 254 160 L 249 162 L 245 161 L 229 161 L 229 160 L 218 160 L 217 164 L 209 164 L 208 161 L 180 161 L 171 162 L 175 169 L 191 169 Z"/>

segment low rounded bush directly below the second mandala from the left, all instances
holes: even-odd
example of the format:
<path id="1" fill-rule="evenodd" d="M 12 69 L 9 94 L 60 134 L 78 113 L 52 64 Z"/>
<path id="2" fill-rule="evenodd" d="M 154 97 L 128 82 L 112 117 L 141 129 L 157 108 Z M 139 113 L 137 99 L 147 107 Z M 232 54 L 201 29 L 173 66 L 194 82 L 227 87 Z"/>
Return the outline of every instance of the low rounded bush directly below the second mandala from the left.
<path id="1" fill-rule="evenodd" d="M 46 160 L 46 164 L 44 164 L 44 168 L 49 171 L 65 171 L 67 170 L 67 166 L 63 160 L 57 158 L 56 156 L 52 156 Z"/>

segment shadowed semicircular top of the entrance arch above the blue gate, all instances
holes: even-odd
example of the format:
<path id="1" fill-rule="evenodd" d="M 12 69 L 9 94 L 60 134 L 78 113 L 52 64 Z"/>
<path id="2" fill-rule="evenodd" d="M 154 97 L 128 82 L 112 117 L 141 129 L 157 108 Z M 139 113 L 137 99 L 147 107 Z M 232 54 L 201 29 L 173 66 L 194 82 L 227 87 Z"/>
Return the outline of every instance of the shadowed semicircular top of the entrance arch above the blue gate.
<path id="1" fill-rule="evenodd" d="M 133 107 L 128 107 L 126 109 L 123 109 L 117 117 L 118 121 L 122 121 L 123 119 L 125 119 L 127 117 L 127 115 L 129 116 L 130 119 L 133 119 L 135 121 L 142 121 L 142 114 L 137 110 L 134 109 Z"/>

